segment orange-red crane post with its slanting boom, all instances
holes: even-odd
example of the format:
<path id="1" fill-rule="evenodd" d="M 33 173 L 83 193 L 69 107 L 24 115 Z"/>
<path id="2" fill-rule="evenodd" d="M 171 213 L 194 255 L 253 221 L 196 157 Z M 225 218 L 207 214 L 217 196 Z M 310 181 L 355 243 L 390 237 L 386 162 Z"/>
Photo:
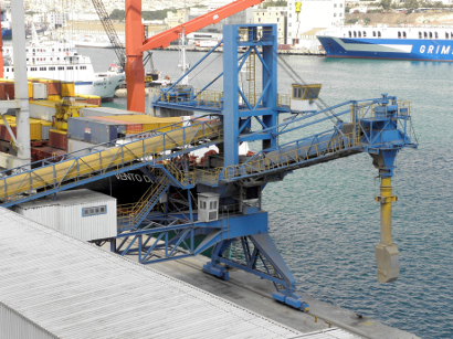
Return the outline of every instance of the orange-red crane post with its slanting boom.
<path id="1" fill-rule="evenodd" d="M 171 41 L 179 39 L 179 34 L 182 33 L 182 28 L 185 34 L 189 34 L 263 1 L 264 0 L 236 0 L 183 24 L 169 29 L 168 31 L 156 34 L 145 41 L 145 30 L 141 23 L 141 0 L 126 0 L 127 62 L 125 70 L 127 109 L 145 113 L 145 68 L 143 65 L 145 51 L 168 46 Z"/>

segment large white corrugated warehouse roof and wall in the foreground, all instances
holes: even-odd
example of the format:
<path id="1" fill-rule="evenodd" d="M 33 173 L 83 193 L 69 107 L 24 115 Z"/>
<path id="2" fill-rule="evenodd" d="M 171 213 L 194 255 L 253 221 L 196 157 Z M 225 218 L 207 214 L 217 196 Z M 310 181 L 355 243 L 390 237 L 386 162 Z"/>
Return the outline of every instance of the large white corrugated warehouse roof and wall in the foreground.
<path id="1" fill-rule="evenodd" d="M 352 338 L 306 337 L 3 208 L 0 234 L 3 339 Z"/>

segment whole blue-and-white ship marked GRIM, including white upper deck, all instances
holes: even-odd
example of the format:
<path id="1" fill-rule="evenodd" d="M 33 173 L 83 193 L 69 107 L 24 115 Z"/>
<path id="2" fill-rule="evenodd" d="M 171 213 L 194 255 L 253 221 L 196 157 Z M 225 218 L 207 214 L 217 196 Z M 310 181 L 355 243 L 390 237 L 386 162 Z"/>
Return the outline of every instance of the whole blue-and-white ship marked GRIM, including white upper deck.
<path id="1" fill-rule="evenodd" d="M 453 61 L 453 28 L 349 27 L 320 31 L 327 57 Z"/>

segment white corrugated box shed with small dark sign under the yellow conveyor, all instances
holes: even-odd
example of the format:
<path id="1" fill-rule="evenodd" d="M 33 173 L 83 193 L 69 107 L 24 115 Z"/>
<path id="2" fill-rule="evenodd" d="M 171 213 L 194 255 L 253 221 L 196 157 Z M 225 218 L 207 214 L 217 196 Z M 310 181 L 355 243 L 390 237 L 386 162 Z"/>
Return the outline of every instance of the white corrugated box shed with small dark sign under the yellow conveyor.
<path id="1" fill-rule="evenodd" d="M 15 212 L 83 241 L 117 235 L 116 199 L 91 190 L 64 191 L 21 203 Z"/>

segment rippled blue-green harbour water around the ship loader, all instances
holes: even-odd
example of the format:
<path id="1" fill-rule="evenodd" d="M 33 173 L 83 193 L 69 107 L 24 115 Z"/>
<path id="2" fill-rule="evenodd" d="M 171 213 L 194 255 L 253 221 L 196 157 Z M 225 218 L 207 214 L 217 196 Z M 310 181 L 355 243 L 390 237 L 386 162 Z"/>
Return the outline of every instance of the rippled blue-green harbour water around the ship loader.
<path id="1" fill-rule="evenodd" d="M 112 50 L 80 49 L 96 71 L 115 60 Z M 202 53 L 189 53 L 193 64 Z M 177 52 L 155 51 L 155 66 L 172 78 Z M 330 105 L 381 93 L 412 102 L 419 149 L 397 157 L 393 242 L 400 278 L 376 280 L 379 242 L 378 171 L 357 155 L 295 171 L 264 191 L 272 237 L 295 275 L 299 290 L 423 338 L 453 338 L 453 64 L 407 61 L 327 60 L 286 56 L 309 83 L 322 83 Z M 222 68 L 212 55 L 196 71 L 194 86 Z M 278 92 L 291 78 L 280 73 Z M 221 88 L 221 83 L 217 85 Z M 114 105 L 125 107 L 124 99 Z"/>

